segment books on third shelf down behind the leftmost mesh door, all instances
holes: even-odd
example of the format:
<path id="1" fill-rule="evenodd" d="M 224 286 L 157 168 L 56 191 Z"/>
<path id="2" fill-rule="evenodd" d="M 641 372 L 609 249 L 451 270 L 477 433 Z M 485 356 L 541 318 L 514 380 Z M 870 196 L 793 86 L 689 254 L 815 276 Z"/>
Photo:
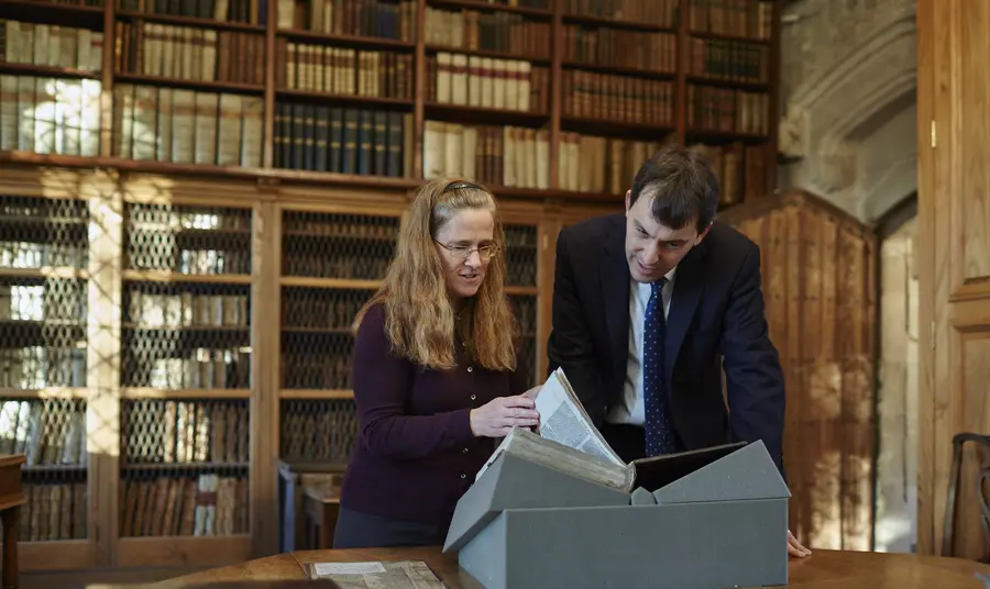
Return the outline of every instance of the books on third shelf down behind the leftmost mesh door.
<path id="1" fill-rule="evenodd" d="M 3 325 L 3 329 L 10 330 L 10 324 Z M 51 337 L 48 333 L 43 334 L 41 340 L 50 342 L 22 346 L 11 346 L 4 342 L 0 347 L 0 389 L 86 387 L 86 342 L 81 337 L 76 340 L 64 334 Z"/>

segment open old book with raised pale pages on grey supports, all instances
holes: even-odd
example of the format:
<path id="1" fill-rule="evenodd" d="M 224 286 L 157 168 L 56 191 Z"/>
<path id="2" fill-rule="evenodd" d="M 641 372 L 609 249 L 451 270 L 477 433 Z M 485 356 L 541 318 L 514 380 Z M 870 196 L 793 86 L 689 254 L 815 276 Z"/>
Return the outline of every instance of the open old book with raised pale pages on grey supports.
<path id="1" fill-rule="evenodd" d="M 514 454 L 625 492 L 632 492 L 635 487 L 644 487 L 652 492 L 691 473 L 701 463 L 708 463 L 739 447 L 739 444 L 727 444 L 703 451 L 641 458 L 626 464 L 592 423 L 560 368 L 543 384 L 537 396 L 536 408 L 540 412 L 538 432 L 520 427 L 510 431 L 479 470 L 475 480 L 484 475 L 498 456 Z"/>

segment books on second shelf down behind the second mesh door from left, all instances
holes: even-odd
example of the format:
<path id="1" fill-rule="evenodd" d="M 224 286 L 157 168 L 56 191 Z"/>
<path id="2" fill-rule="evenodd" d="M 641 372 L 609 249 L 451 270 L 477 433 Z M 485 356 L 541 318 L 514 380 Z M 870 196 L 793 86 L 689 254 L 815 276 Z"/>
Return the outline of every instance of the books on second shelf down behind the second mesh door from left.
<path id="1" fill-rule="evenodd" d="M 154 327 L 248 327 L 248 294 L 130 291 L 130 324 Z"/>

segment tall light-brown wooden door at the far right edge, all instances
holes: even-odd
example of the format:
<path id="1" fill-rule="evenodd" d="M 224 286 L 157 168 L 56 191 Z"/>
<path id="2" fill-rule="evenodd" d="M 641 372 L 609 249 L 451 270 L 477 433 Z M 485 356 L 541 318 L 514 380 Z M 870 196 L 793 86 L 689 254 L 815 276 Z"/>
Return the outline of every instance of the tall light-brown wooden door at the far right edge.
<path id="1" fill-rule="evenodd" d="M 919 552 L 942 552 L 959 432 L 990 435 L 990 2 L 920 0 Z M 986 551 L 970 449 L 953 552 Z M 990 486 L 985 485 L 985 489 Z"/>

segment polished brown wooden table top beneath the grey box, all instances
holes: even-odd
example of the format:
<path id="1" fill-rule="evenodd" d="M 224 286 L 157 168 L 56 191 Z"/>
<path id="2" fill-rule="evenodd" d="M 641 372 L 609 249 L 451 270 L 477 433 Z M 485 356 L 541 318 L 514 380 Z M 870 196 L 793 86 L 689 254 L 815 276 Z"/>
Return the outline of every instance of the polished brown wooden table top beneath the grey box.
<path id="1" fill-rule="evenodd" d="M 713 557 L 714 558 L 714 557 Z M 163 581 L 161 589 L 195 587 L 230 580 L 305 579 L 311 563 L 364 560 L 425 560 L 451 589 L 476 587 L 462 578 L 455 556 L 439 548 L 374 548 L 349 551 L 302 551 L 286 553 L 240 565 L 215 568 Z M 717 559 L 713 565 L 717 566 Z M 807 558 L 790 560 L 788 587 L 801 589 L 983 589 L 975 574 L 990 578 L 990 566 L 959 558 L 909 554 L 814 551 Z M 740 588 L 741 589 L 741 588 Z"/>

